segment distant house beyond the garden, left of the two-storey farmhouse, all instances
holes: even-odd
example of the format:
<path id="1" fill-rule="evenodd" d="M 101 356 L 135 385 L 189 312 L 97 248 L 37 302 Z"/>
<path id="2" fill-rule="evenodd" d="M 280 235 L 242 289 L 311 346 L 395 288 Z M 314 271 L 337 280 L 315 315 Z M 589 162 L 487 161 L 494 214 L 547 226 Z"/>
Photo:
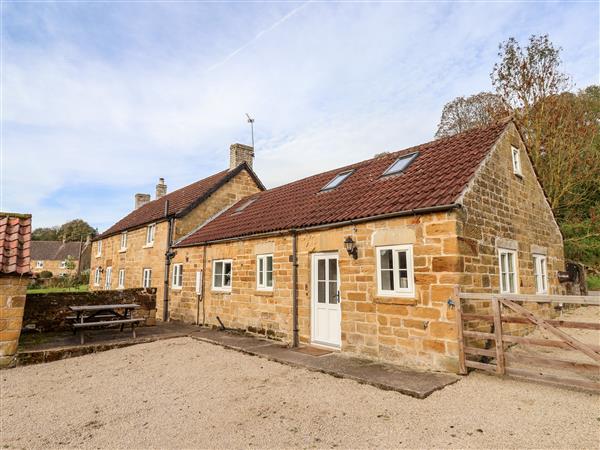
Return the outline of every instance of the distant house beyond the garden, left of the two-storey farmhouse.
<path id="1" fill-rule="evenodd" d="M 90 252 L 86 242 L 32 241 L 31 272 L 51 272 L 54 276 L 76 275 L 88 267 Z"/>

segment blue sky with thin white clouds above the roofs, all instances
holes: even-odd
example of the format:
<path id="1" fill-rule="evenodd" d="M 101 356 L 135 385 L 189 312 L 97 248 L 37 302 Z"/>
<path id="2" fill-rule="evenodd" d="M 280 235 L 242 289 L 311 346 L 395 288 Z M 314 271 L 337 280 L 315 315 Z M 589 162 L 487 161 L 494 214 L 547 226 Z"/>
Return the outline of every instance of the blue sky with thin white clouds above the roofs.
<path id="1" fill-rule="evenodd" d="M 599 82 L 597 2 L 3 2 L 0 210 L 103 230 L 249 143 L 274 187 L 431 140 L 490 90 L 498 44 L 549 33 Z"/>

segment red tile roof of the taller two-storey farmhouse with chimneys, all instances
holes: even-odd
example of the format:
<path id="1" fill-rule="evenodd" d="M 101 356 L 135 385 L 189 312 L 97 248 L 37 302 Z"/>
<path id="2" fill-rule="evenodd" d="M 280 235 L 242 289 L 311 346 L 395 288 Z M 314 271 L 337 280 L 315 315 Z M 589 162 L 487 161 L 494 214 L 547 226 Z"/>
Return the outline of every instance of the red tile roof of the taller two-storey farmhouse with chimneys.
<path id="1" fill-rule="evenodd" d="M 264 186 L 252 169 L 250 169 L 246 163 L 243 163 L 234 170 L 223 170 L 208 178 L 204 178 L 203 180 L 196 181 L 181 189 L 177 189 L 158 200 L 146 203 L 144 206 L 130 212 L 104 233 L 96 236 L 93 240 L 96 241 L 131 228 L 137 228 L 148 223 L 165 220 L 165 203 L 167 201 L 169 202 L 169 216 L 184 216 L 242 170 L 247 170 L 254 181 L 256 181 L 256 184 L 261 189 L 264 189 Z"/>

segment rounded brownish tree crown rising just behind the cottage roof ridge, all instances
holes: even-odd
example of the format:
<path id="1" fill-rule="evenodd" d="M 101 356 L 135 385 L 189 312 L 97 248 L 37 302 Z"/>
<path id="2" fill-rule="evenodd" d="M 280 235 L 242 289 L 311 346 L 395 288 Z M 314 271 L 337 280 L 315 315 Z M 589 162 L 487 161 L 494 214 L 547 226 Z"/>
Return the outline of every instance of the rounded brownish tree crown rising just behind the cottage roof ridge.
<path id="1" fill-rule="evenodd" d="M 497 94 L 480 92 L 469 97 L 457 97 L 444 106 L 435 137 L 448 137 L 489 125 L 508 115 L 502 97 Z"/>

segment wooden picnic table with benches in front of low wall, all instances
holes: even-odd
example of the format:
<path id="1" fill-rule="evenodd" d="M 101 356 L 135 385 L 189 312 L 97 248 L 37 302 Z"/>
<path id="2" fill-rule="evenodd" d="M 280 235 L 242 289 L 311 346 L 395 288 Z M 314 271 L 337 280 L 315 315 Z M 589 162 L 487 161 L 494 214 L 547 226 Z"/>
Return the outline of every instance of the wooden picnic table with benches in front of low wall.
<path id="1" fill-rule="evenodd" d="M 67 319 L 73 321 L 73 333 L 79 333 L 79 341 L 84 343 L 83 330 L 95 327 L 113 327 L 120 326 L 121 331 L 125 325 L 131 325 L 131 332 L 135 338 L 135 326 L 145 319 L 133 318 L 132 313 L 140 305 L 136 303 L 122 303 L 116 305 L 78 305 L 69 306 L 69 309 L 75 313 Z M 122 310 L 123 312 L 119 312 Z"/>

